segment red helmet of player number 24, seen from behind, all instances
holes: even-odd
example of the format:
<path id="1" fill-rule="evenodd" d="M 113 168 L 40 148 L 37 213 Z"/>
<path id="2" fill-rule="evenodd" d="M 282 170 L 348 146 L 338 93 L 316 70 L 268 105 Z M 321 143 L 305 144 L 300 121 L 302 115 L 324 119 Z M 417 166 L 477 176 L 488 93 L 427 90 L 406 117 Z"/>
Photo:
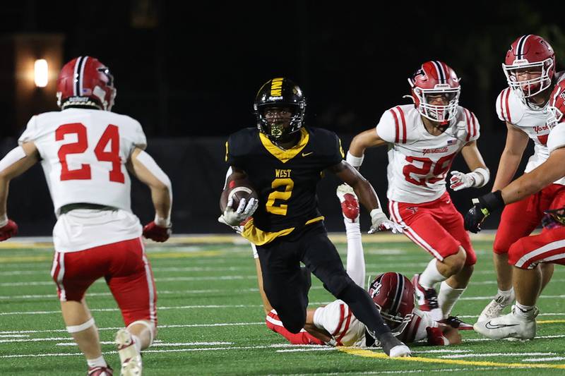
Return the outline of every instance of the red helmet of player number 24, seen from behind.
<path id="1" fill-rule="evenodd" d="M 116 97 L 114 77 L 107 66 L 91 56 L 79 56 L 61 69 L 57 78 L 57 105 L 93 106 L 111 111 Z"/>

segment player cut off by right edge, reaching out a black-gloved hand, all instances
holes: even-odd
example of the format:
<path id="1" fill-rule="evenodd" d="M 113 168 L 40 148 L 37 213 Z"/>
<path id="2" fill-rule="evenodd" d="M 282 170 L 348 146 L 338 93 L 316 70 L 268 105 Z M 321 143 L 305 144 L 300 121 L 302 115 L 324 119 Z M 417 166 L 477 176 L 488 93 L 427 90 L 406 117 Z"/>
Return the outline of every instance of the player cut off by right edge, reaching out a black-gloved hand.
<path id="1" fill-rule="evenodd" d="M 480 197 L 465 214 L 465 227 L 469 231 L 480 231 L 480 225 L 494 210 L 522 200 L 565 177 L 565 81 L 554 87 L 550 98 L 548 111 L 551 116 L 547 121 L 547 126 L 552 129 L 547 138 L 549 158 L 504 189 Z M 525 236 L 511 245 L 508 262 L 513 266 L 516 305 L 512 306 L 508 315 L 475 323 L 477 332 L 494 339 L 535 337 L 535 317 L 539 313 L 535 303 L 543 286 L 540 265 L 565 265 L 564 212 L 562 206 L 547 210 L 545 228 L 540 235 Z"/>

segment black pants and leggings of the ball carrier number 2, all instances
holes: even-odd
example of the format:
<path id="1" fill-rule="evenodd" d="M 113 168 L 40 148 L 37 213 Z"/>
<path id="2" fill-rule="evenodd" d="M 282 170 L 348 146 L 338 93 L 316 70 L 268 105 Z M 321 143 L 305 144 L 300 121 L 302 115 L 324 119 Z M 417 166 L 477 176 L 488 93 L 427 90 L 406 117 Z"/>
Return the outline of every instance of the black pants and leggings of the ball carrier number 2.
<path id="1" fill-rule="evenodd" d="M 326 290 L 347 303 L 369 332 L 390 332 L 367 291 L 357 286 L 345 272 L 338 250 L 321 222 L 266 245 L 258 245 L 257 252 L 263 272 L 263 289 L 290 332 L 298 333 L 306 322 L 308 286 L 300 270 L 301 261 L 323 282 Z"/>

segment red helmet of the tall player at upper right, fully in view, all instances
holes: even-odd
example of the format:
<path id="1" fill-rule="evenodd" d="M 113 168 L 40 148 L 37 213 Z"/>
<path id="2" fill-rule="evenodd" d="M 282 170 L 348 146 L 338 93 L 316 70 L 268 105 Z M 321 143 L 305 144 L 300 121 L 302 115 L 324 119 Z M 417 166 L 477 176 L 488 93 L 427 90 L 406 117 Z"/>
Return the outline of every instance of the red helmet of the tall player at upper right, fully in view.
<path id="1" fill-rule="evenodd" d="M 527 68 L 540 68 L 540 77 L 518 80 L 518 73 Z M 502 64 L 509 87 L 525 104 L 526 99 L 552 85 L 555 75 L 555 54 L 552 47 L 542 37 L 523 35 L 515 40 Z"/>

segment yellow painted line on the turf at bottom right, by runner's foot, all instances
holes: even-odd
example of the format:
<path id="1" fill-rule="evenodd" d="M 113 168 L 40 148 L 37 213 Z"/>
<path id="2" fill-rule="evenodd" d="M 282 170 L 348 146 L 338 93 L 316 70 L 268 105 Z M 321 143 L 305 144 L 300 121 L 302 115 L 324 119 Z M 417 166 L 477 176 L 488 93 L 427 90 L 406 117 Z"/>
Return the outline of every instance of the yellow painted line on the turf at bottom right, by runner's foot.
<path id="1" fill-rule="evenodd" d="M 384 353 L 376 353 L 370 350 L 355 347 L 338 347 L 340 351 L 349 353 L 355 356 L 363 356 L 364 358 L 379 358 L 398 360 L 403 362 L 422 362 L 422 363 L 442 363 L 442 364 L 456 364 L 456 365 L 479 365 L 486 367 L 507 367 L 507 368 L 554 368 L 565 370 L 565 364 L 525 364 L 525 363 L 499 363 L 499 362 L 485 362 L 479 360 L 456 360 L 456 359 L 439 359 L 439 358 L 422 358 L 420 356 L 412 356 L 411 358 L 388 358 Z"/>

